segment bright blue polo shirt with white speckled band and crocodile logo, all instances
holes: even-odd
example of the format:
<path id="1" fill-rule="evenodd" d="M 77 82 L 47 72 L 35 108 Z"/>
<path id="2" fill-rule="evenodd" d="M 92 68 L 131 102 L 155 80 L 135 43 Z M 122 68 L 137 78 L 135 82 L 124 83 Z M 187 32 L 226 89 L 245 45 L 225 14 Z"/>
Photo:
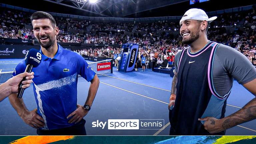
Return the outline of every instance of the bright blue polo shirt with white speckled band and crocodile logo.
<path id="1" fill-rule="evenodd" d="M 24 72 L 25 69 L 23 59 L 15 68 L 13 76 Z M 59 44 L 54 58 L 48 58 L 42 53 L 41 63 L 32 71 L 35 73 L 33 89 L 37 113 L 45 122 L 42 130 L 74 125 L 68 123 L 71 118 L 67 119 L 67 116 L 77 108 L 78 75 L 89 82 L 95 76 L 95 72 L 81 55 L 63 49 Z"/>

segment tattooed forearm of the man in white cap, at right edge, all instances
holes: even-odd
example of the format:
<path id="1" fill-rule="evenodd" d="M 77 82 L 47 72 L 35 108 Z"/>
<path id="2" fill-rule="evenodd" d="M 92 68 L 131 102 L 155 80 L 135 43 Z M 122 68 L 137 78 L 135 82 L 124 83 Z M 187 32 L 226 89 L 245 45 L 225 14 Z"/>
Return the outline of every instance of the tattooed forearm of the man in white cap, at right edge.
<path id="1" fill-rule="evenodd" d="M 222 123 L 224 129 L 229 129 L 238 124 L 251 121 L 256 118 L 256 98 L 252 99 L 242 109 L 226 117 Z"/>

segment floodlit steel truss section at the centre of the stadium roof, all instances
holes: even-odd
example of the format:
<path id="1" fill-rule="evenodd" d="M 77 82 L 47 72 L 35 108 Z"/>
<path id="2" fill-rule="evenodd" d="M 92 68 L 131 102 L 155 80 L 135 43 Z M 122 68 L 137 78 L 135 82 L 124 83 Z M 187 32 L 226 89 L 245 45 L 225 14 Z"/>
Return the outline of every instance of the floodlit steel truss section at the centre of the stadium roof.
<path id="1" fill-rule="evenodd" d="M 102 17 L 125 17 L 188 0 L 44 0 Z"/>

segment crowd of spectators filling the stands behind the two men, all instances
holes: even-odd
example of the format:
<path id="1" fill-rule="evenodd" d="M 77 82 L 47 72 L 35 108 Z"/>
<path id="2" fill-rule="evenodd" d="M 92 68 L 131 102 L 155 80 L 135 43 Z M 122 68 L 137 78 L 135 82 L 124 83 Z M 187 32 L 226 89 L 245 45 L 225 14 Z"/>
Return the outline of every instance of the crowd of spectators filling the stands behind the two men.
<path id="1" fill-rule="evenodd" d="M 32 29 L 21 27 L 21 25 L 31 26 L 29 16 L 29 13 L 18 10 L 0 10 L 0 38 L 35 39 Z M 96 23 L 62 17 L 55 17 L 55 20 L 60 29 L 57 42 L 88 44 L 132 42 L 140 45 L 139 60 L 140 56 L 145 53 L 148 60 L 157 59 L 158 63 L 161 63 L 164 59 L 167 59 L 169 62 L 173 62 L 175 53 L 187 47 L 187 45 L 182 44 L 180 35 L 174 36 L 170 33 L 171 31 L 179 32 L 178 22 L 164 20 L 147 24 Z M 256 60 L 254 54 L 256 49 L 255 25 L 255 8 L 239 13 L 218 15 L 217 20 L 210 25 L 207 34 L 208 39 L 235 48 L 254 63 Z M 227 34 L 226 26 L 231 26 L 234 30 Z M 71 29 L 78 31 L 70 32 Z M 90 33 L 88 29 L 100 32 Z M 117 32 L 117 30 L 119 31 Z M 111 31 L 115 32 L 112 33 Z M 125 31 L 132 32 L 132 34 L 126 35 Z M 144 32 L 144 34 L 140 32 Z M 84 49 L 77 52 L 84 56 L 116 58 L 114 54 L 120 53 L 120 47 Z"/>

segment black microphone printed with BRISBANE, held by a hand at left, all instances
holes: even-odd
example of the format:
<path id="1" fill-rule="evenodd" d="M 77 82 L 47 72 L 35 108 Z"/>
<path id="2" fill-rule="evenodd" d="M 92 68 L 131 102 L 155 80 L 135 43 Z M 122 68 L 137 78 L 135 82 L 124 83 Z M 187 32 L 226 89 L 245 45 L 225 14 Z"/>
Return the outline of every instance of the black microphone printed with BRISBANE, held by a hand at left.
<path id="1" fill-rule="evenodd" d="M 30 49 L 28 53 L 25 56 L 25 64 L 27 65 L 25 72 L 31 73 L 33 67 L 37 67 L 42 60 L 42 54 L 40 51 L 36 49 Z M 23 85 L 22 82 L 26 80 L 26 77 L 22 79 L 22 81 L 19 84 L 19 90 L 18 90 L 18 98 L 22 98 L 22 95 L 24 93 L 24 88 L 21 88 Z"/>

